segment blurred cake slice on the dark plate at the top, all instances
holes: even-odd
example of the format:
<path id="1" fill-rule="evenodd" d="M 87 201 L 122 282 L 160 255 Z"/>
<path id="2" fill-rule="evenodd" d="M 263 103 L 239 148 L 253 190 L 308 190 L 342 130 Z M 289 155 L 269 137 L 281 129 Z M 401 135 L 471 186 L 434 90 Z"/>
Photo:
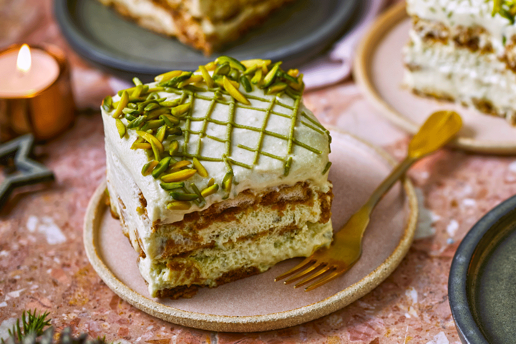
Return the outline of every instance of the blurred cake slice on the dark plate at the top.
<path id="1" fill-rule="evenodd" d="M 100 0 L 154 32 L 210 55 L 293 0 Z"/>

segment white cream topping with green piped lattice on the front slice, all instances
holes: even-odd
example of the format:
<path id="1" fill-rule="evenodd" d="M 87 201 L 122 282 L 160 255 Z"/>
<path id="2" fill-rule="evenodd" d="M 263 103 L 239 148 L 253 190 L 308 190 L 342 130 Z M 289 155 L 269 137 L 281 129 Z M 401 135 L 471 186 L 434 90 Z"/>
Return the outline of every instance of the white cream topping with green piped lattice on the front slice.
<path id="1" fill-rule="evenodd" d="M 150 87 L 155 83 L 149 84 Z M 243 91 L 240 89 L 240 91 Z M 199 92 L 200 96 L 213 98 L 213 92 Z M 251 108 L 240 105 L 235 107 L 233 122 L 229 117 L 231 105 L 216 103 L 211 113 L 208 109 L 212 101 L 196 98 L 189 122 L 189 130 L 186 129 L 188 123 L 182 121 L 180 126 L 183 128 L 184 135 L 169 136 L 164 141 L 165 149 L 168 150 L 168 143 L 171 139 L 177 139 L 180 147 L 185 147 L 189 154 L 197 152 L 205 158 L 219 159 L 222 154 L 228 153 L 232 163 L 234 173 L 233 185 L 229 197 L 234 197 L 241 191 L 250 189 L 258 192 L 268 187 L 275 187 L 281 184 L 292 185 L 298 181 L 309 180 L 315 190 L 327 192 L 329 184 L 327 182 L 328 172 L 325 170 L 328 164 L 329 135 L 320 126 L 314 117 L 302 103 L 299 104 L 297 113 L 294 99 L 283 95 L 264 95 L 262 89 L 254 88 L 254 91 L 245 93 L 251 102 Z M 159 96 L 168 100 L 180 98 L 176 93 L 159 92 Z M 223 96 L 226 101 L 231 98 Z M 113 101 L 120 97 L 113 97 Z M 272 106 L 271 106 L 272 104 Z M 272 109 L 272 113 L 266 111 Z M 207 115 L 209 113 L 209 115 Z M 266 118 L 268 114 L 268 118 Z M 206 204 L 199 207 L 192 203 L 188 210 L 169 210 L 167 204 L 173 199 L 168 191 L 160 187 L 159 179 L 154 179 L 152 175 L 142 176 L 141 169 L 144 164 L 149 162 L 147 152 L 143 149 L 131 149 L 133 142 L 138 135 L 134 130 L 128 130 L 128 135 L 120 138 L 116 128 L 115 118 L 110 116 L 102 109 L 104 119 L 104 130 L 106 140 L 106 153 L 115 154 L 120 163 L 134 177 L 136 184 L 147 200 L 147 214 L 151 222 L 159 220 L 161 223 L 173 223 L 180 221 L 183 215 L 188 212 L 198 211 L 209 207 L 214 202 L 219 202 L 226 195 L 221 188 L 211 196 L 206 197 Z M 291 131 L 291 124 L 295 117 L 294 130 Z M 209 118 L 209 120 L 205 120 Z M 122 119 L 127 124 L 126 119 Z M 231 125 L 233 123 L 233 125 Z M 236 124 L 236 126 L 235 126 Z M 201 134 L 205 126 L 204 133 Z M 261 130 L 263 127 L 263 130 Z M 254 128 L 254 129 L 249 129 Z M 294 135 L 291 136 L 291 133 Z M 201 137 L 202 136 L 202 137 Z M 290 137 L 290 138 L 289 138 Z M 229 139 L 229 140 L 228 140 Z M 261 147 L 262 153 L 256 154 L 254 150 L 257 146 Z M 290 147 L 290 148 L 289 148 Z M 183 148 L 184 149 L 184 148 Z M 291 152 L 288 152 L 291 149 Z M 182 151 L 182 149 L 180 149 Z M 285 176 L 285 158 L 291 157 L 292 164 Z M 176 158 L 181 160 L 180 158 Z M 227 165 L 224 161 L 206 161 L 200 159 L 208 172 L 208 178 L 203 178 L 198 174 L 185 181 L 185 185 L 195 183 L 200 190 L 207 186 L 209 178 L 214 178 L 219 185 L 227 173 Z M 236 162 L 236 163 L 235 163 Z M 116 171 L 110 171 L 116 174 Z M 122 190 L 123 192 L 123 190 Z M 132 195 L 125 195 L 132 197 Z M 122 199 L 124 198 L 121 196 Z"/>

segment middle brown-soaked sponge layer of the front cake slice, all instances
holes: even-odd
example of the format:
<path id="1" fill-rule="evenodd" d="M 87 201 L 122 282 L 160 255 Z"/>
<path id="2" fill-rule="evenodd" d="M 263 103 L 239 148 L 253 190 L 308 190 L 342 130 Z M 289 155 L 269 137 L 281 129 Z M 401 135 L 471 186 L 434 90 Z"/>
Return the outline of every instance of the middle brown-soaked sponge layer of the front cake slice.
<path id="1" fill-rule="evenodd" d="M 140 193 L 136 190 L 137 194 Z M 111 190 L 110 195 L 119 199 L 116 190 Z M 136 226 L 146 225 L 144 215 L 136 221 L 121 199 L 118 209 L 124 233 L 135 250 L 142 257 L 159 260 L 199 248 L 223 247 L 228 242 L 281 232 L 307 222 L 327 223 L 332 197 L 331 191 L 326 194 L 312 191 L 308 183 L 282 185 L 257 195 L 242 192 L 234 199 L 188 213 L 182 221 L 154 226 L 147 237 L 140 237 Z"/>

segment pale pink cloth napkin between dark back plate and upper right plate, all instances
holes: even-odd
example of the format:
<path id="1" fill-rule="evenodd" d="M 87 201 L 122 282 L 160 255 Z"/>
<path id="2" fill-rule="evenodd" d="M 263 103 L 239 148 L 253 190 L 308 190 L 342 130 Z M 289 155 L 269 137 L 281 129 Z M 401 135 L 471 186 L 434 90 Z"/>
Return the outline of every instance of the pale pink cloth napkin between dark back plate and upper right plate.
<path id="1" fill-rule="evenodd" d="M 333 45 L 329 53 L 300 69 L 303 73 L 305 89 L 335 84 L 345 80 L 351 74 L 357 44 L 389 1 L 367 0 L 365 3 L 363 17 L 340 41 Z"/>

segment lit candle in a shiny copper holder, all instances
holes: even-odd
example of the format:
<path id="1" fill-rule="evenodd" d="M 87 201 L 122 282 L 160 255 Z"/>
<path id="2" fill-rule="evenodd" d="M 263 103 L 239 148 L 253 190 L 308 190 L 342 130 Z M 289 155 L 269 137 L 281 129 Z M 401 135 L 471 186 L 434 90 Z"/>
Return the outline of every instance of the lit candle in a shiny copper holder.
<path id="1" fill-rule="evenodd" d="M 0 52 L 0 141 L 33 133 L 52 138 L 73 120 L 70 72 L 54 46 L 13 45 Z"/>

